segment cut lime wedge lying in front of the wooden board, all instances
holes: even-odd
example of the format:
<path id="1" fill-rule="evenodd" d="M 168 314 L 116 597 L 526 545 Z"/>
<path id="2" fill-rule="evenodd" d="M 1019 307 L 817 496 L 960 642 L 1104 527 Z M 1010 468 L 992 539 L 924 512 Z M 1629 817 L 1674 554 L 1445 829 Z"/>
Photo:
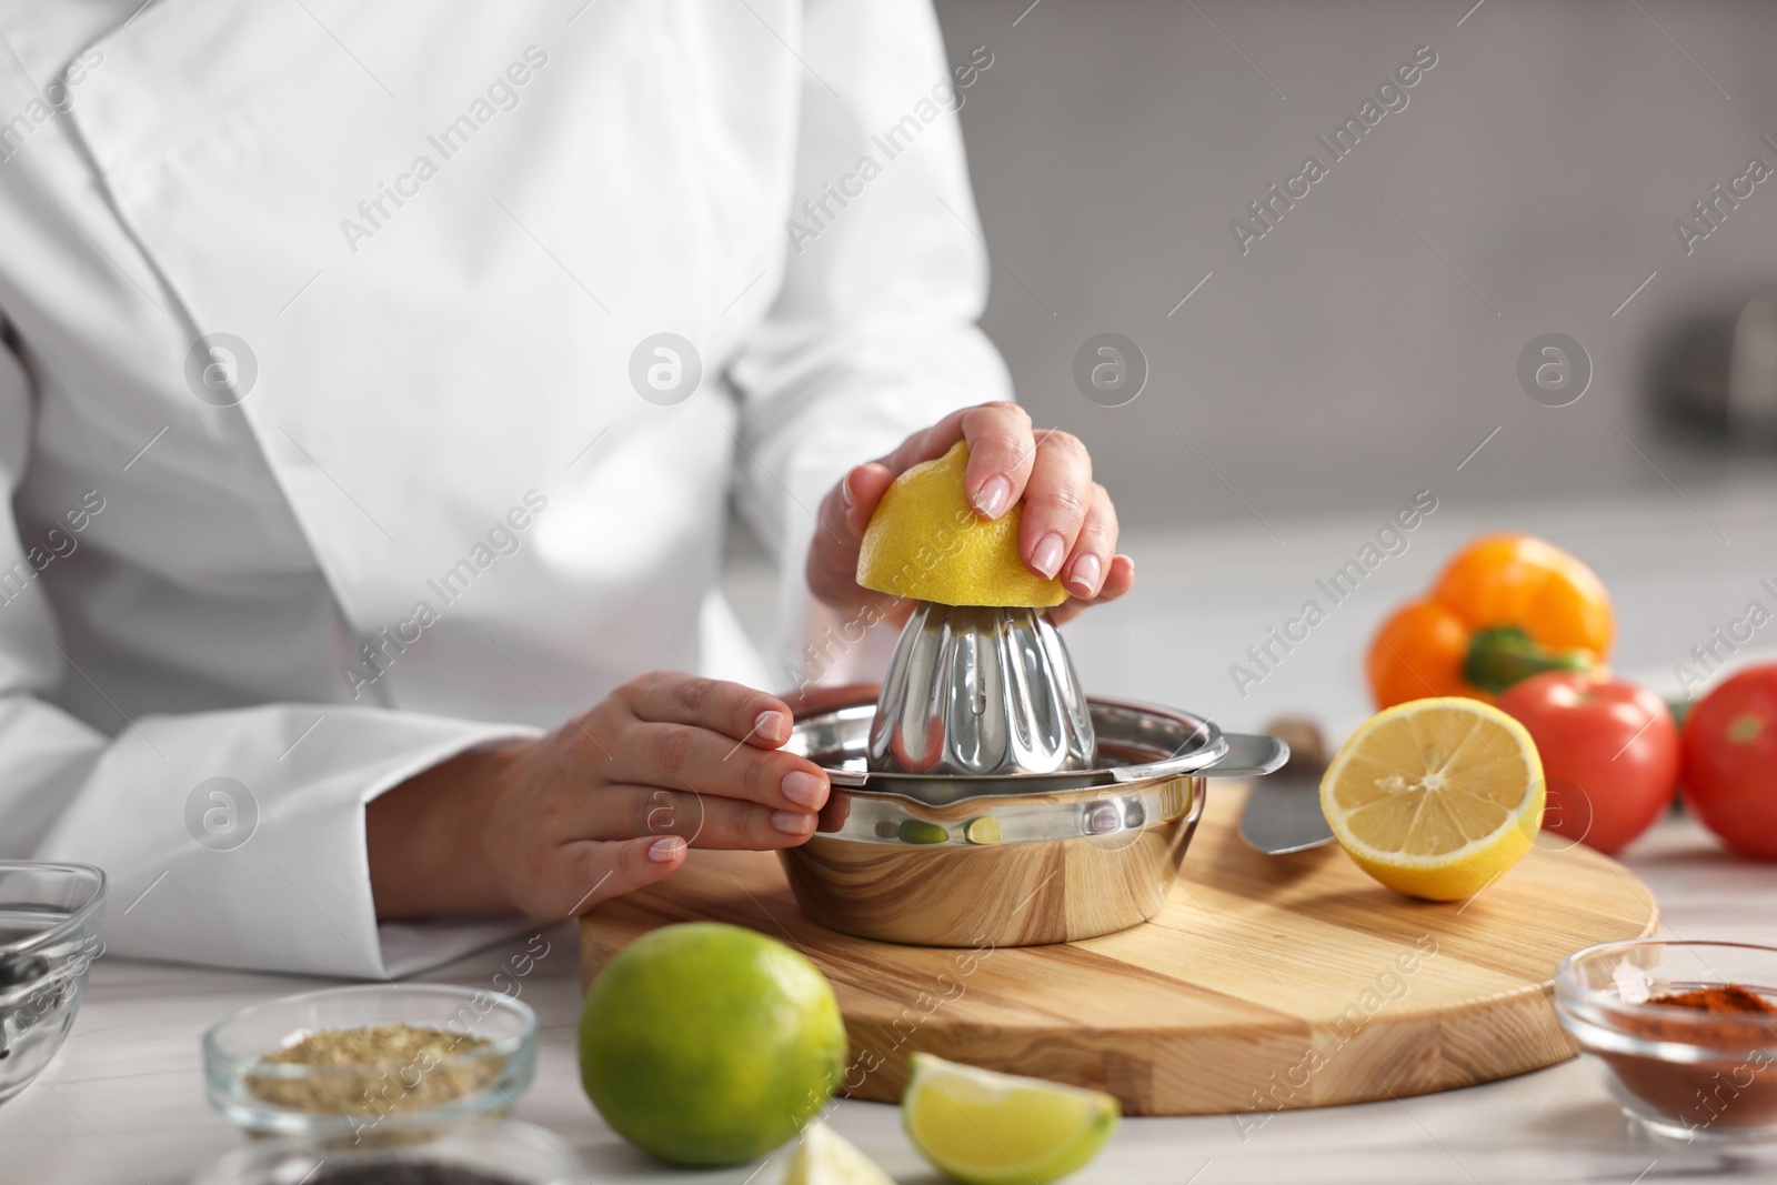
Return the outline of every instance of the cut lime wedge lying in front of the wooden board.
<path id="1" fill-rule="evenodd" d="M 913 1054 L 901 1123 L 913 1148 L 965 1185 L 1047 1185 L 1086 1167 L 1116 1130 L 1104 1091 Z"/>

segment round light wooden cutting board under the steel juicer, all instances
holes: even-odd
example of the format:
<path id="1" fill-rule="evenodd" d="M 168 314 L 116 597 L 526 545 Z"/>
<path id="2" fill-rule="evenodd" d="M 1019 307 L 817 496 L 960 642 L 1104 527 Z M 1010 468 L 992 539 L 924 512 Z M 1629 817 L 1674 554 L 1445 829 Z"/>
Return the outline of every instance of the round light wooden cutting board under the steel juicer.
<path id="1" fill-rule="evenodd" d="M 846 1086 L 894 1101 L 913 1050 L 1111 1091 L 1127 1114 L 1269 1112 L 1489 1082 L 1574 1054 L 1551 975 L 1596 942 L 1649 934 L 1647 887 L 1539 840 L 1466 903 L 1400 897 L 1338 847 L 1265 856 L 1217 783 L 1151 922 L 1052 947 L 954 950 L 805 920 L 775 856 L 693 853 L 581 922 L 590 977 L 631 938 L 693 919 L 798 945 L 833 981 Z M 1256 1121 L 1256 1119 L 1255 1119 Z"/>

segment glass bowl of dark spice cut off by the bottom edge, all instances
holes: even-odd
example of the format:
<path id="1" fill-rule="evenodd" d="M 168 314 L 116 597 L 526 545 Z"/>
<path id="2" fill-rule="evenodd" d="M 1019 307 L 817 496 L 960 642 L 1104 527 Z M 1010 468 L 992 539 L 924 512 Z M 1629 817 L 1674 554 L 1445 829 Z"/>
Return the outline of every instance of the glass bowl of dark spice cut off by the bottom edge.
<path id="1" fill-rule="evenodd" d="M 322 1149 L 299 1139 L 254 1141 L 197 1176 L 194 1185 L 585 1185 L 592 1180 L 540 1128 L 471 1123 L 414 1148 Z"/>

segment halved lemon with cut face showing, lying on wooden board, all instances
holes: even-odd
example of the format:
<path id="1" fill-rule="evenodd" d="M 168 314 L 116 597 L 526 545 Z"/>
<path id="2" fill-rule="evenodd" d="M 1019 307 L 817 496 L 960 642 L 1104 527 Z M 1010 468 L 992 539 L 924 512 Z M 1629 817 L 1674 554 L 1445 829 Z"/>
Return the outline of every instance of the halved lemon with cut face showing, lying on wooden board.
<path id="1" fill-rule="evenodd" d="M 1320 778 L 1320 810 L 1358 865 L 1411 897 L 1471 897 L 1542 830 L 1542 760 L 1480 700 L 1409 700 L 1367 720 Z"/>

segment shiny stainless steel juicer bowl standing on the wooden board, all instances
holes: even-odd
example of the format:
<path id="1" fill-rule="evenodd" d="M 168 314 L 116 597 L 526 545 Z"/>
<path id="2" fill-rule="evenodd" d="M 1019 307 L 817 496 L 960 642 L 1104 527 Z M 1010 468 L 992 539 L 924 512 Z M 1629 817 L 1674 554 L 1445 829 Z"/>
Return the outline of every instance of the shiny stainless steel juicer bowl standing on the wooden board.
<path id="1" fill-rule="evenodd" d="M 807 844 L 780 853 L 803 913 L 832 929 L 929 947 L 1029 947 L 1107 934 L 1160 911 L 1207 778 L 1288 757 L 1276 737 L 1146 704 L 1089 698 L 1093 769 L 988 776 L 869 767 L 878 688 L 796 702 L 785 748 L 828 769 Z"/>

